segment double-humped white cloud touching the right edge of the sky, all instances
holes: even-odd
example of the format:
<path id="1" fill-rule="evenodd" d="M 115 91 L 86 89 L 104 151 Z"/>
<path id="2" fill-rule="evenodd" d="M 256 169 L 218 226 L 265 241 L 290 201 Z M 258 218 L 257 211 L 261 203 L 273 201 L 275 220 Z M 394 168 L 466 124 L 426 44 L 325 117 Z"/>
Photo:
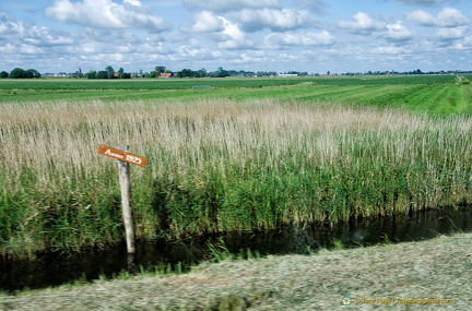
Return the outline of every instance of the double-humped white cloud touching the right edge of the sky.
<path id="1" fill-rule="evenodd" d="M 457 27 L 470 23 L 469 19 L 465 17 L 462 12 L 452 8 L 442 9 L 436 17 L 425 11 L 416 10 L 409 13 L 406 19 L 420 25 L 439 27 Z"/>

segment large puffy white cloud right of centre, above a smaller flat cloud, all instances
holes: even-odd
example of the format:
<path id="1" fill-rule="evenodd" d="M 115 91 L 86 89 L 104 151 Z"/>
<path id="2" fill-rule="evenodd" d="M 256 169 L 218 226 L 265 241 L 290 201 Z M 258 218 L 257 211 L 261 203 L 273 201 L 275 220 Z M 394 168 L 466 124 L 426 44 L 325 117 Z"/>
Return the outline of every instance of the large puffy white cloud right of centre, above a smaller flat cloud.
<path id="1" fill-rule="evenodd" d="M 319 23 L 306 10 L 295 9 L 244 9 L 232 13 L 248 32 L 257 32 L 270 28 L 275 32 L 292 31 L 319 26 Z"/>

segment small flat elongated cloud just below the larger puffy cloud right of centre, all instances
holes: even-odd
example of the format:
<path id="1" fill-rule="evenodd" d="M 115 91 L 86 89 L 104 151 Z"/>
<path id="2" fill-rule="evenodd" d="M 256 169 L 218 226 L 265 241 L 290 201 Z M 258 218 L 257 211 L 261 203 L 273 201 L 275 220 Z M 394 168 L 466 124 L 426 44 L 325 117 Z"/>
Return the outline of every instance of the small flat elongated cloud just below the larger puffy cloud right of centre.
<path id="1" fill-rule="evenodd" d="M 329 32 L 303 33 L 303 34 L 280 34 L 274 33 L 264 37 L 267 46 L 272 48 L 294 46 L 329 46 L 334 43 L 334 36 Z"/>

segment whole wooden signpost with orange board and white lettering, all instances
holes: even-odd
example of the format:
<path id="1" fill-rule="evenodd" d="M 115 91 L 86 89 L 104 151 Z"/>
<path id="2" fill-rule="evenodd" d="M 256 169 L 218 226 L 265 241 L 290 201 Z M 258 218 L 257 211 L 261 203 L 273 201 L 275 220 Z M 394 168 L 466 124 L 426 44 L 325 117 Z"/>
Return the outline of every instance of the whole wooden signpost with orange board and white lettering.
<path id="1" fill-rule="evenodd" d="M 128 254 L 135 253 L 134 247 L 134 224 L 132 219 L 132 210 L 131 210 L 131 178 L 129 164 L 135 164 L 141 167 L 145 167 L 148 164 L 148 159 L 144 157 L 140 157 L 127 152 L 128 146 L 120 146 L 119 148 L 113 148 L 104 145 L 98 146 L 98 153 L 102 155 L 106 155 L 113 157 L 118 160 L 118 176 L 121 191 L 121 211 L 125 223 L 125 232 L 126 232 L 126 241 L 127 241 L 127 251 Z"/>

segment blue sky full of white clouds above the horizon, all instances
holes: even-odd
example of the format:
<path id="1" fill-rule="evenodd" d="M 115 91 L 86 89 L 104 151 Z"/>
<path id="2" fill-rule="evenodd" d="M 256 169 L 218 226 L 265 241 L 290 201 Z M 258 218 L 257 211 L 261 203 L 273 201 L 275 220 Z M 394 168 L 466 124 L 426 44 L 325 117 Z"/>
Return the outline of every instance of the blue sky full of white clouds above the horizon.
<path id="1" fill-rule="evenodd" d="M 472 70 L 471 0 L 1 0 L 0 71 Z"/>

